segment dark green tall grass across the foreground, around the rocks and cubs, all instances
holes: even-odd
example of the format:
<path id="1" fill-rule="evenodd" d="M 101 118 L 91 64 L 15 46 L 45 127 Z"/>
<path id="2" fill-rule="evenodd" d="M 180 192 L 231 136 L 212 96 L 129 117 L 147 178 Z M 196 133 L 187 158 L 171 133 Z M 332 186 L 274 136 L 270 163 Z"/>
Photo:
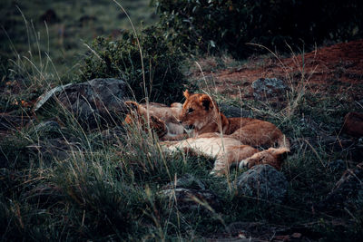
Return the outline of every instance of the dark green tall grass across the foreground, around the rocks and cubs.
<path id="1" fill-rule="evenodd" d="M 34 35 L 34 29 L 29 33 Z M 39 50 L 40 40 L 34 38 L 39 41 Z M 38 51 L 35 57 L 33 51 L 26 58 L 16 56 L 12 72 L 28 80 L 25 88 L 49 88 L 48 72 L 54 67 L 48 54 Z M 42 121 L 56 116 L 62 121 L 54 137 L 37 131 L 39 121 L 34 120 L 0 139 L 2 240 L 203 240 L 219 235 L 235 237 L 229 225 L 240 221 L 263 221 L 285 228 L 313 224 L 306 229 L 318 238 L 338 235 L 338 240 L 347 234 L 358 238 L 362 235 L 359 219 L 344 231 L 334 231 L 337 227 L 330 222 L 343 219 L 350 223 L 350 214 L 343 211 L 334 217 L 311 209 L 342 172 L 329 169 L 329 162 L 341 157 L 327 150 L 317 137 L 319 126 L 314 126 L 318 121 L 336 119 L 336 112 L 323 107 L 338 101 L 332 98 L 314 106 L 320 97 L 306 89 L 307 74 L 300 76 L 298 87 L 289 80 L 287 106 L 280 111 L 260 102 L 238 100 L 257 117 L 267 116 L 279 125 L 292 141 L 293 153 L 282 169 L 289 180 L 283 204 L 240 196 L 235 187 L 239 171 L 231 170 L 224 178 L 211 177 L 213 160 L 165 153 L 150 129 L 144 132 L 137 126 L 110 124 L 104 130 L 100 124 L 90 131 L 57 103 L 37 117 Z M 214 96 L 213 86 L 210 88 L 207 92 Z M 338 111 L 342 109 L 348 109 L 348 103 Z M 330 124 L 325 131 L 333 131 L 338 124 Z M 59 147 L 52 146 L 54 140 Z M 63 155 L 55 152 L 59 150 Z M 163 186 L 175 186 L 186 174 L 215 193 L 221 208 L 211 208 L 201 198 L 194 198 L 199 208 L 181 209 L 179 200 L 162 196 Z M 359 210 L 354 212 L 359 218 Z"/>

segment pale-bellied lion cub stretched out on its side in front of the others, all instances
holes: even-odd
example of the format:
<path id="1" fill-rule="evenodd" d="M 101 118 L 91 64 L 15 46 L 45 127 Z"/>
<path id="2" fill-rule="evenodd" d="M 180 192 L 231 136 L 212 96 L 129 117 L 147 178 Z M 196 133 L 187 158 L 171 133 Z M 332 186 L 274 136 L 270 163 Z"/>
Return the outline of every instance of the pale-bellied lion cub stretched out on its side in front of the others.
<path id="1" fill-rule="evenodd" d="M 239 165 L 240 169 L 251 168 L 258 164 L 269 164 L 276 169 L 281 168 L 284 154 L 289 152 L 286 148 L 270 148 L 257 150 L 250 145 L 244 145 L 240 140 L 230 137 L 221 137 L 218 133 L 204 133 L 198 138 L 181 141 L 165 141 L 162 146 L 167 150 L 182 150 L 196 155 L 204 155 L 215 159 L 211 174 L 220 176 L 228 174 L 231 165 Z"/>

